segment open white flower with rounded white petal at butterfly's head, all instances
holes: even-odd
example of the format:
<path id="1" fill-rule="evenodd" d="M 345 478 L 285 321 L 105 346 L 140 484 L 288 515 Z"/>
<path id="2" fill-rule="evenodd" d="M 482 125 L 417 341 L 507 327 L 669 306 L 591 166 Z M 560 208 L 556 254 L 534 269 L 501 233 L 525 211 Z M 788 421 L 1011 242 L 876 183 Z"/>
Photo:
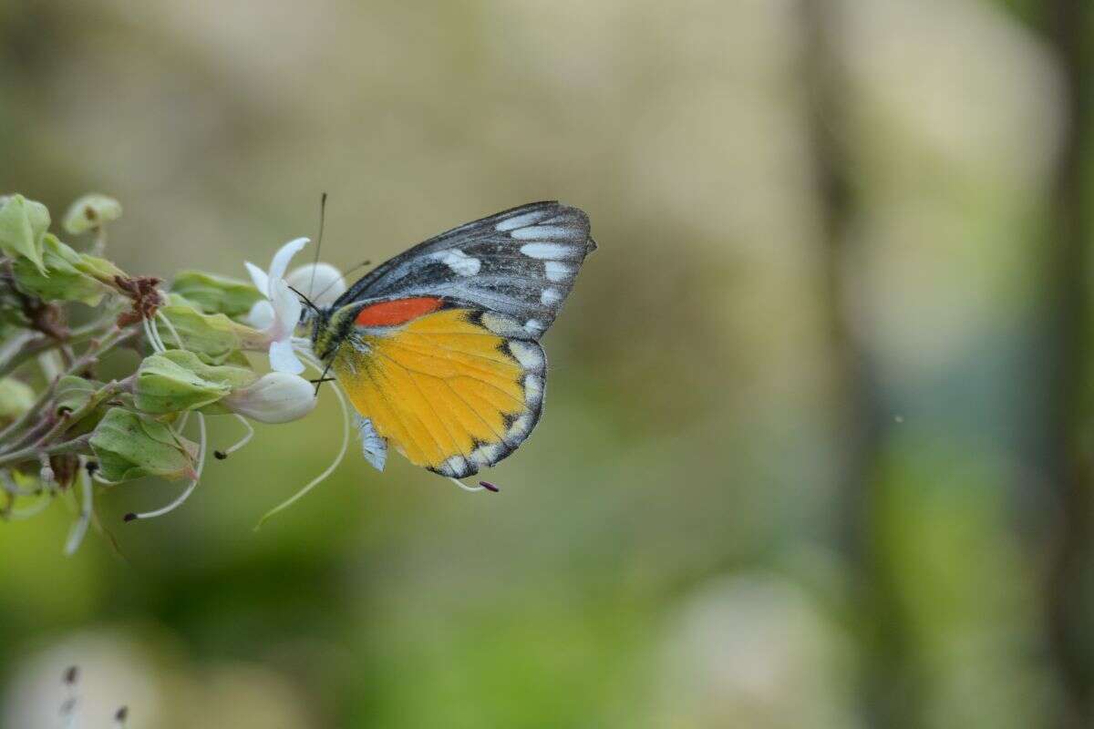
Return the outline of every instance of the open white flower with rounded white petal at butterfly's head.
<path id="1" fill-rule="evenodd" d="M 295 238 L 281 246 L 274 254 L 268 271 L 249 261 L 245 263 L 251 280 L 266 296 L 251 307 L 247 321 L 269 338 L 270 367 L 292 375 L 304 372 L 304 364 L 292 349 L 303 305 L 292 290 L 309 296 L 315 306 L 328 306 L 346 291 L 341 272 L 329 263 L 310 263 L 286 277 L 289 261 L 307 243 L 307 238 Z"/>

